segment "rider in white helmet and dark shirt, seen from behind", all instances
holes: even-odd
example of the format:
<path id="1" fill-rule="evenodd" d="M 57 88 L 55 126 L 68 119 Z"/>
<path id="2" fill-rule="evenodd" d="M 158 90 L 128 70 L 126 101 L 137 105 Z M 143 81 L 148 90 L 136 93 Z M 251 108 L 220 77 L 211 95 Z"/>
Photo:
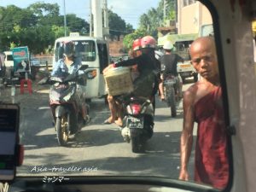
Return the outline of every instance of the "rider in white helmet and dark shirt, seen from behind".
<path id="1" fill-rule="evenodd" d="M 163 49 L 165 51 L 165 55 L 162 55 L 160 57 L 160 63 L 161 65 L 165 66 L 164 72 L 161 75 L 161 81 L 159 84 L 159 90 L 160 90 L 160 98 L 161 100 L 165 100 L 165 95 L 164 95 L 164 84 L 163 82 L 166 79 L 166 76 L 168 74 L 172 74 L 175 76 L 176 79 L 176 87 L 178 89 L 178 97 L 182 98 L 182 86 L 183 82 L 178 78 L 178 73 L 177 73 L 177 62 L 181 61 L 183 62 L 183 58 L 177 54 L 173 54 L 172 50 L 174 49 L 173 44 L 170 41 L 166 41 Z"/>

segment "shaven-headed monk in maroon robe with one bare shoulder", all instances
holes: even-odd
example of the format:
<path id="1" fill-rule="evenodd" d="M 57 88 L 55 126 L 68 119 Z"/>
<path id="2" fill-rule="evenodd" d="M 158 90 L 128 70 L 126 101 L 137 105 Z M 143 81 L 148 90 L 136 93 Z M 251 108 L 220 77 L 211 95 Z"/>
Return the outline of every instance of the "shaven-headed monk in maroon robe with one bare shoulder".
<path id="1" fill-rule="evenodd" d="M 195 182 L 224 189 L 229 178 L 227 131 L 224 123 L 222 89 L 216 47 L 212 37 L 197 38 L 189 49 L 191 62 L 202 79 L 183 94 L 183 131 L 179 179 L 189 180 L 187 170 L 193 145 L 193 127 L 198 124 L 195 143 Z"/>

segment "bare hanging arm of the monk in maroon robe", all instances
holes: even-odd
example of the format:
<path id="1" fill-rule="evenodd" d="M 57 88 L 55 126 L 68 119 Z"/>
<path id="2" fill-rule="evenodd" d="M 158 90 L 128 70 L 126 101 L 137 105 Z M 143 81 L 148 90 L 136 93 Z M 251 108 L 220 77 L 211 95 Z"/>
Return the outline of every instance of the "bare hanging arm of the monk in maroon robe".
<path id="1" fill-rule="evenodd" d="M 183 131 L 180 142 L 181 167 L 179 179 L 189 180 L 188 163 L 193 145 L 193 127 L 195 121 L 195 93 L 191 87 L 183 95 Z"/>

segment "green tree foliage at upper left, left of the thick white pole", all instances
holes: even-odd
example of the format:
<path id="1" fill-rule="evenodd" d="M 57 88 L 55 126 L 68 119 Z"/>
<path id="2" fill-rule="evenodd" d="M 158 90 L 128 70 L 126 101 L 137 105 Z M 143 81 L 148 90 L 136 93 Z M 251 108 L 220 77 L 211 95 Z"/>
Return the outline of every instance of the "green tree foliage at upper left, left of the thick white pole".
<path id="1" fill-rule="evenodd" d="M 0 50 L 28 46 L 32 54 L 48 51 L 55 38 L 64 36 L 64 16 L 57 3 L 33 3 L 26 9 L 15 5 L 0 7 Z M 89 24 L 67 15 L 67 32 L 88 34 Z"/>

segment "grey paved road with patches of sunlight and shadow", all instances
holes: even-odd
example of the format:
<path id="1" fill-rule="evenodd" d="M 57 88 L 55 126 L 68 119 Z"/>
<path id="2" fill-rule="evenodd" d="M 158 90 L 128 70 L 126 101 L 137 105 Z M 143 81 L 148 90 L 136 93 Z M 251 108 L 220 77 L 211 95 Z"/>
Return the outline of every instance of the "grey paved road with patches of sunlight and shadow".
<path id="1" fill-rule="evenodd" d="M 183 89 L 186 89 L 186 84 Z M 165 102 L 157 100 L 154 136 L 148 141 L 145 154 L 133 154 L 131 144 L 125 143 L 117 125 L 102 125 L 108 118 L 108 106 L 97 99 L 90 103 L 89 125 L 74 138 L 67 148 L 56 140 L 44 87 L 33 87 L 33 94 L 20 95 L 20 138 L 25 145 L 24 165 L 18 176 L 28 175 L 143 175 L 177 178 L 179 172 L 179 139 L 183 110 L 179 103 L 177 117 Z M 11 101 L 9 88 L 2 91 L 2 99 Z M 14 99 L 13 99 L 14 100 Z M 193 171 L 193 156 L 189 169 Z M 66 170 L 65 170 L 66 169 Z M 66 172 L 64 172 L 66 171 Z"/>

